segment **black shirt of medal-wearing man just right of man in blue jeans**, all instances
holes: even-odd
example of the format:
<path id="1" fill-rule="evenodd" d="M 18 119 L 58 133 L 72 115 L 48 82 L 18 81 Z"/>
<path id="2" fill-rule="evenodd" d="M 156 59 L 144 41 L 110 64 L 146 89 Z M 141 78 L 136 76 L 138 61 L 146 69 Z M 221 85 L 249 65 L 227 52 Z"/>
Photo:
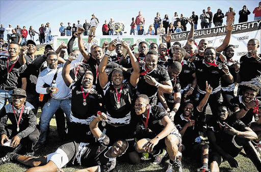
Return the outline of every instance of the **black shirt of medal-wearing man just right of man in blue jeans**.
<path id="1" fill-rule="evenodd" d="M 101 110 L 101 107 L 99 106 L 99 103 L 102 102 L 101 95 L 97 93 L 94 89 L 91 91 L 91 93 L 88 94 L 86 97 L 86 105 L 84 106 L 84 98 L 83 98 L 83 92 L 81 89 L 81 80 L 74 81 L 70 85 L 71 89 L 71 116 L 75 117 L 71 122 L 78 123 L 77 119 L 88 119 L 89 117 L 96 115 L 97 111 Z M 84 94 L 87 95 L 88 92 L 84 91 Z"/>

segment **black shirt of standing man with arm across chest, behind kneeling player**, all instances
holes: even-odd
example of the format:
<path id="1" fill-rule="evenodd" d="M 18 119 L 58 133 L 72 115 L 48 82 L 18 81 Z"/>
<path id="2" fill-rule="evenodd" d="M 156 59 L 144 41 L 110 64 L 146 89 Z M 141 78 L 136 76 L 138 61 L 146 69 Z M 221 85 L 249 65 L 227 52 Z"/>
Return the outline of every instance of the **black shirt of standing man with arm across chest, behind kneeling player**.
<path id="1" fill-rule="evenodd" d="M 145 73 L 146 73 L 146 69 L 145 69 L 145 65 L 141 65 L 141 71 L 140 71 L 140 80 L 138 83 L 138 93 L 139 94 L 145 94 L 148 97 L 152 97 L 154 95 L 156 95 L 156 93 L 158 93 L 158 88 L 156 88 L 155 86 L 152 86 L 150 84 L 148 84 L 145 79 Z M 170 80 L 169 74 L 167 72 L 167 70 L 159 65 L 156 66 L 156 68 L 152 71 L 149 71 L 146 73 L 147 75 L 155 78 L 156 81 L 158 82 L 162 82 L 162 81 L 168 81 Z"/>

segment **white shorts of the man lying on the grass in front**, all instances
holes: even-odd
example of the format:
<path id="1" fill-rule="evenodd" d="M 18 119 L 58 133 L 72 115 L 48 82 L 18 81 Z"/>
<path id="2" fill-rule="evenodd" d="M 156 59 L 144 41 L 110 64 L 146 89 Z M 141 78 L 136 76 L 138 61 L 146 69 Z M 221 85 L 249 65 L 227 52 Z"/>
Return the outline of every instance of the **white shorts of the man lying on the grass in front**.
<path id="1" fill-rule="evenodd" d="M 53 161 L 58 168 L 62 168 L 69 162 L 67 154 L 60 148 L 58 148 L 54 153 L 47 155 L 47 162 Z"/>

